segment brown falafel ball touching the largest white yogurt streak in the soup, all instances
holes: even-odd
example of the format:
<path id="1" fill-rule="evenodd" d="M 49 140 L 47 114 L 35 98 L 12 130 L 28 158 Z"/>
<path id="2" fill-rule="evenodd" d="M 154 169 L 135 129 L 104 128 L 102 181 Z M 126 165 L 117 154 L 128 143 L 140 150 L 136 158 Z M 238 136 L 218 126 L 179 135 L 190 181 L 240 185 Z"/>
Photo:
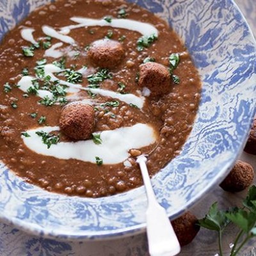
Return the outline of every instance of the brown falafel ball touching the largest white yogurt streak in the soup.
<path id="1" fill-rule="evenodd" d="M 60 129 L 69 138 L 87 140 L 95 127 L 94 108 L 84 102 L 71 102 L 61 111 Z"/>

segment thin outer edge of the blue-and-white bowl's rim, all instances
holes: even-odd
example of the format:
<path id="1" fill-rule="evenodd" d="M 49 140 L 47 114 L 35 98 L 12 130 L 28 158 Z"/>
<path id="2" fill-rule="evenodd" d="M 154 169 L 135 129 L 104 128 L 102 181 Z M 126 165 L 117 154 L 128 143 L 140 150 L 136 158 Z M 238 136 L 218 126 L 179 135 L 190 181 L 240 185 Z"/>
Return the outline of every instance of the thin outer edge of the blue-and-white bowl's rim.
<path id="1" fill-rule="evenodd" d="M 246 19 L 244 18 L 243 13 L 241 13 L 241 11 L 239 10 L 237 4 L 233 0 L 227 0 L 227 1 L 229 1 L 228 2 L 229 4 L 234 6 L 235 8 L 234 10 L 236 10 L 237 14 L 240 15 L 240 18 L 242 18 L 244 27 L 248 28 L 250 36 L 252 37 L 251 39 L 255 44 L 254 51 L 255 51 L 255 57 L 256 57 L 256 42 L 255 42 L 255 38 L 253 36 L 252 30 L 250 29 L 250 26 L 248 25 Z M 255 61 L 254 68 L 256 68 L 256 61 Z M 256 82 L 255 82 L 255 85 L 256 85 Z M 255 86 L 255 89 L 256 89 L 256 86 Z M 253 116 L 255 116 L 255 113 L 256 113 L 256 108 L 254 108 L 254 111 L 250 113 L 250 116 L 249 116 L 250 124 L 252 124 Z M 193 198 L 189 200 L 186 205 L 184 205 L 183 207 L 180 207 L 179 211 L 176 211 L 175 213 L 172 214 L 172 216 L 169 216 L 171 220 L 177 218 L 186 210 L 188 210 L 190 207 L 200 202 L 200 200 L 202 200 L 205 196 L 207 196 L 208 193 L 210 193 L 214 189 L 214 185 L 220 184 L 220 182 L 223 179 L 225 179 L 227 173 L 231 170 L 232 166 L 236 162 L 237 156 L 239 156 L 241 152 L 243 152 L 243 148 L 246 143 L 246 138 L 248 137 L 249 131 L 250 131 L 250 128 L 248 128 L 247 132 L 244 132 L 243 140 L 239 145 L 239 150 L 233 156 L 232 161 L 228 161 L 228 163 L 222 167 L 221 171 L 218 172 L 218 175 L 216 175 L 213 182 L 211 182 L 209 186 L 205 186 L 204 189 L 202 189 L 202 191 L 198 193 L 196 196 L 193 196 Z M 134 190 L 136 189 L 133 189 L 133 191 Z M 0 220 L 4 221 L 4 223 L 10 223 L 12 225 L 15 225 L 16 227 L 20 228 L 20 230 L 23 230 L 24 232 L 28 232 L 29 234 L 35 234 L 36 236 L 44 236 L 48 238 L 65 239 L 65 240 L 74 239 L 78 241 L 79 240 L 90 241 L 93 239 L 99 239 L 99 240 L 116 239 L 116 237 L 120 237 L 120 236 L 122 237 L 132 236 L 132 235 L 140 234 L 141 232 L 144 232 L 146 228 L 146 223 L 142 223 L 140 225 L 134 225 L 132 227 L 119 228 L 118 230 L 113 230 L 111 232 L 109 232 L 109 230 L 107 230 L 106 232 L 101 231 L 100 234 L 97 231 L 95 232 L 95 234 L 91 232 L 90 235 L 88 236 L 88 234 L 86 234 L 86 231 L 81 232 L 81 234 L 77 234 L 77 233 L 72 233 L 70 231 L 65 232 L 61 230 L 61 232 L 59 232 L 58 230 L 51 230 L 51 228 L 39 228 L 33 223 L 28 222 L 28 220 L 21 220 L 20 218 L 17 218 L 17 217 L 10 218 L 6 216 L 4 212 L 0 212 Z"/>

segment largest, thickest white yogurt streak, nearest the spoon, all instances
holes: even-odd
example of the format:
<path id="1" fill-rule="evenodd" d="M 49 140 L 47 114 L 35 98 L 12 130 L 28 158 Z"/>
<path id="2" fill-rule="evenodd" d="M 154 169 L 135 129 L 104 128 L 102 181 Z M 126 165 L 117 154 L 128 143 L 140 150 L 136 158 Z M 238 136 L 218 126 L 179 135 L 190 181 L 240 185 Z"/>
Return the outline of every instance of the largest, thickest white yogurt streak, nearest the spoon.
<path id="1" fill-rule="evenodd" d="M 129 157 L 131 148 L 147 147 L 156 141 L 154 129 L 147 124 L 136 124 L 131 127 L 121 127 L 112 131 L 100 132 L 102 143 L 96 145 L 93 140 L 76 142 L 59 142 L 47 148 L 36 131 L 59 131 L 58 126 L 40 127 L 28 132 L 31 137 L 22 136 L 24 144 L 37 154 L 52 156 L 59 159 L 77 159 L 95 163 L 95 156 L 103 159 L 104 164 L 118 164 Z"/>

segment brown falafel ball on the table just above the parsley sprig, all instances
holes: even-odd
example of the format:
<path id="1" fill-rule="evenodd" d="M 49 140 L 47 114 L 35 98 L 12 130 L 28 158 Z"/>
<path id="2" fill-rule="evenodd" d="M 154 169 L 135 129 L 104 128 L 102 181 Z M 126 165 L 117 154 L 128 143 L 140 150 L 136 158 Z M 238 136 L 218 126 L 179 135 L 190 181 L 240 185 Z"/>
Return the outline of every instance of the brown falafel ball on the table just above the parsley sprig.
<path id="1" fill-rule="evenodd" d="M 236 161 L 235 166 L 226 179 L 221 182 L 220 187 L 225 191 L 239 192 L 248 188 L 252 184 L 253 178 L 252 165 L 243 161 Z"/>

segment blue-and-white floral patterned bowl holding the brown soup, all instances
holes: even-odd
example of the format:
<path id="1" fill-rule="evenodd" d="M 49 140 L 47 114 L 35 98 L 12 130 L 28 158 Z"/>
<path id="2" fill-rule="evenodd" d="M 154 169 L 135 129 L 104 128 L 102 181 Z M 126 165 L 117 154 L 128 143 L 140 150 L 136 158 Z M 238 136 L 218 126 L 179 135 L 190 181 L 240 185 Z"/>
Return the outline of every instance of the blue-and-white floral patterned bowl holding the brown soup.
<path id="1" fill-rule="evenodd" d="M 0 39 L 47 0 L 2 0 Z M 167 20 L 188 47 L 203 81 L 193 131 L 181 154 L 152 178 L 157 200 L 176 218 L 230 171 L 255 114 L 255 40 L 231 0 L 136 0 Z M 106 198 L 49 193 L 1 163 L 0 219 L 22 230 L 61 239 L 110 239 L 145 230 L 143 187 Z"/>

